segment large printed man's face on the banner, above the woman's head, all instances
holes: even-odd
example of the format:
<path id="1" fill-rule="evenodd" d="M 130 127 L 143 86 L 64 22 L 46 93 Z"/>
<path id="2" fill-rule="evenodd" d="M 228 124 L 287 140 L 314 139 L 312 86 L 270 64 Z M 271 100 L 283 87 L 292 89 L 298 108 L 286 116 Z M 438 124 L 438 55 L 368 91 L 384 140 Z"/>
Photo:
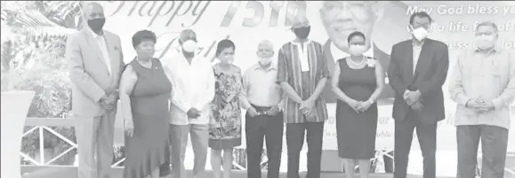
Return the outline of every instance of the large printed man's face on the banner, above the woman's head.
<path id="1" fill-rule="evenodd" d="M 370 39 L 374 22 L 382 8 L 376 1 L 325 1 L 320 9 L 320 18 L 327 35 L 339 49 L 348 49 L 347 37 L 359 31 Z M 367 40 L 367 44 L 369 44 Z"/>

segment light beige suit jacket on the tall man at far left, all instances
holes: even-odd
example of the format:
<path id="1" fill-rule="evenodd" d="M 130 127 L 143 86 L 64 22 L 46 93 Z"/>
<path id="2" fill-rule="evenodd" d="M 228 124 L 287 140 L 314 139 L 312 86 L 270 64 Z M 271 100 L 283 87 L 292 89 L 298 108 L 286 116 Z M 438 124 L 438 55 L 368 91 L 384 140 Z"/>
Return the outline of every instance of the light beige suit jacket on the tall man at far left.
<path id="1" fill-rule="evenodd" d="M 104 30 L 104 38 L 109 50 L 110 75 L 101 47 L 89 28 L 84 27 L 68 35 L 66 58 L 72 82 L 72 110 L 76 116 L 101 116 L 105 111 L 99 100 L 106 93 L 118 89 L 118 81 L 125 66 L 120 37 Z"/>

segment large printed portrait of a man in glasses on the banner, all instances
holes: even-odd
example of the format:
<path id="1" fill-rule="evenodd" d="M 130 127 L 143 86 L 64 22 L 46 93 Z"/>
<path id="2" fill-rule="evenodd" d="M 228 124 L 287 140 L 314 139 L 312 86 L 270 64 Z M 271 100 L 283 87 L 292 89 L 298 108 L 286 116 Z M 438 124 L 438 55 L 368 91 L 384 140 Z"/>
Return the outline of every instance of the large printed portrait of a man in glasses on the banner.
<path id="1" fill-rule="evenodd" d="M 390 63 L 390 55 L 379 49 L 374 43 L 372 32 L 374 25 L 382 18 L 382 12 L 386 1 L 324 1 L 319 10 L 320 19 L 326 29 L 329 39 L 324 43 L 324 55 L 328 66 L 334 66 L 336 61 L 350 56 L 347 38 L 355 31 L 366 35 L 367 57 L 379 60 L 382 67 L 387 68 Z M 329 67 L 331 74 L 333 67 Z M 385 74 L 385 82 L 388 84 L 388 75 Z M 335 103 L 336 97 L 330 87 L 324 91 L 327 103 Z M 391 104 L 393 90 L 385 85 L 378 104 Z"/>

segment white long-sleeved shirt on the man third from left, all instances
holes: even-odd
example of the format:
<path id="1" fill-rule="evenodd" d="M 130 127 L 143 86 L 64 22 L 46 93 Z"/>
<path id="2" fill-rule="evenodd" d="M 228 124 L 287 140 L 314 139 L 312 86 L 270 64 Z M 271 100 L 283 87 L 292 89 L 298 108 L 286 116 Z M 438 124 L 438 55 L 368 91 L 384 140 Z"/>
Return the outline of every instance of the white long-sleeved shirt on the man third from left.
<path id="1" fill-rule="evenodd" d="M 182 53 L 165 61 L 165 73 L 172 81 L 170 123 L 174 125 L 208 124 L 214 98 L 213 66 L 207 58 L 195 56 L 191 65 Z M 189 109 L 200 111 L 197 119 L 188 118 Z"/>

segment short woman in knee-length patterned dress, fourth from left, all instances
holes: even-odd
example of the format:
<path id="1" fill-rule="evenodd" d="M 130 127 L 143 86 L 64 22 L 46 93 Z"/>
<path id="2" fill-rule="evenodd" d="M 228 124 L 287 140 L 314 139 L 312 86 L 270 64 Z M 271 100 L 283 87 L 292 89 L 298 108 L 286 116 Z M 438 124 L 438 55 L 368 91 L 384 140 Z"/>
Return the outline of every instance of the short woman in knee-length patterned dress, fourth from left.
<path id="1" fill-rule="evenodd" d="M 232 168 L 232 151 L 241 144 L 241 109 L 239 98 L 243 97 L 241 69 L 232 65 L 236 46 L 230 40 L 218 43 L 216 57 L 220 63 L 213 66 L 215 94 L 212 104 L 209 147 L 214 178 L 229 178 Z M 221 156 L 223 151 L 223 159 Z"/>

